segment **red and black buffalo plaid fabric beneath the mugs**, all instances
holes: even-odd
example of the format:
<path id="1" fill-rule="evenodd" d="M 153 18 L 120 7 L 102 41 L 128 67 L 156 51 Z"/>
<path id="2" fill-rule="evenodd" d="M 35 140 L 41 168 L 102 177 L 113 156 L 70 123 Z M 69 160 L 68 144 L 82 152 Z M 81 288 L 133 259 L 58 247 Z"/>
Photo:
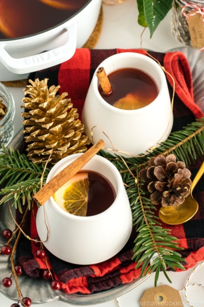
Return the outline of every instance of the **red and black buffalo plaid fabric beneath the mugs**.
<path id="1" fill-rule="evenodd" d="M 107 57 L 120 52 L 139 52 L 142 50 L 88 50 L 78 49 L 75 55 L 68 61 L 55 67 L 30 74 L 29 78 L 40 80 L 49 78 L 48 86 L 60 84 L 59 93 L 68 92 L 73 106 L 78 108 L 81 117 L 83 104 L 89 88 L 90 81 L 97 66 Z M 188 123 L 195 121 L 195 118 L 203 117 L 203 112 L 193 101 L 192 76 L 186 57 L 180 53 L 155 53 L 149 52 L 157 58 L 167 71 L 176 80 L 176 95 L 174 99 L 173 116 L 174 123 L 172 131 L 181 130 Z M 168 77 L 171 83 L 171 79 Z M 169 92 L 172 95 L 172 86 L 168 81 Z M 159 116 L 159 115 L 158 115 Z M 203 157 L 196 164 L 191 164 L 190 170 L 192 180 L 198 171 Z M 186 259 L 184 264 L 189 269 L 204 260 L 204 177 L 198 182 L 194 191 L 194 198 L 199 204 L 199 210 L 191 221 L 177 226 L 169 226 L 162 223 L 164 228 L 171 229 L 171 235 L 177 237 L 181 247 L 180 253 Z M 36 209 L 37 210 L 37 209 Z M 16 214 L 17 221 L 20 221 L 20 214 Z M 122 227 L 122 225 L 121 225 Z M 30 212 L 24 231 L 31 238 L 38 237 L 34 214 Z M 62 234 L 59 240 L 66 241 L 66 235 Z M 119 284 L 127 283 L 140 275 L 140 268 L 135 270 L 133 256 L 135 229 L 125 247 L 113 258 L 96 265 L 79 266 L 67 263 L 58 259 L 46 251 L 48 265 L 53 271 L 55 279 L 61 283 L 61 289 L 66 293 L 90 294 L 96 291 L 108 290 L 117 287 Z M 34 243 L 21 236 L 17 249 L 17 258 L 23 266 L 25 273 L 32 277 L 41 277 L 42 270 L 46 269 L 44 260 L 36 257 L 37 247 Z M 83 251 L 82 251 L 83 254 Z M 176 270 L 179 271 L 179 270 Z"/>

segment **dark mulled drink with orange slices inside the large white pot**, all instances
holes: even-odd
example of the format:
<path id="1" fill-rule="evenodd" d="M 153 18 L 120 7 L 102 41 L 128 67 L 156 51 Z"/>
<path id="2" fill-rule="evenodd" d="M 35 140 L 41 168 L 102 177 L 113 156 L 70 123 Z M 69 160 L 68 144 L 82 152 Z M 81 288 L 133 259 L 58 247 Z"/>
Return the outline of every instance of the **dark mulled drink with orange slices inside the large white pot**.
<path id="1" fill-rule="evenodd" d="M 88 0 L 0 0 L 0 39 L 32 35 L 63 23 Z"/>

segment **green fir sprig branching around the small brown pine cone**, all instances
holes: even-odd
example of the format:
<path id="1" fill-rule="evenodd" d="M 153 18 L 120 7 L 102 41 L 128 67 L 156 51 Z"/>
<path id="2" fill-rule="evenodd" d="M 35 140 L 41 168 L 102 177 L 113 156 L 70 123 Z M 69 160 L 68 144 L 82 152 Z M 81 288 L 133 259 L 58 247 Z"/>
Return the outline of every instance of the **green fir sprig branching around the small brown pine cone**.
<path id="1" fill-rule="evenodd" d="M 170 279 L 166 273 L 167 268 L 185 270 L 182 265 L 181 254 L 176 250 L 181 250 L 177 238 L 170 235 L 169 229 L 163 229 L 158 222 L 158 217 L 154 211 L 156 207 L 151 204 L 148 198 L 148 192 L 143 192 L 143 182 L 139 177 L 139 171 L 148 165 L 149 158 L 173 153 L 177 161 L 183 161 L 186 167 L 191 162 L 195 162 L 198 157 L 204 153 L 204 118 L 189 124 L 184 130 L 171 133 L 168 139 L 161 143 L 159 147 L 149 152 L 144 157 L 124 158 L 125 163 L 137 178 L 131 175 L 122 159 L 110 153 L 101 151 L 100 155 L 110 160 L 120 171 L 123 182 L 126 186 L 127 195 L 129 196 L 130 205 L 133 214 L 133 225 L 136 228 L 135 247 L 133 249 L 133 259 L 137 262 L 136 269 L 141 266 L 140 277 L 148 273 L 156 272 L 155 286 L 162 270 L 164 275 Z M 156 254 L 156 256 L 155 256 Z M 154 258 L 151 260 L 151 258 Z"/>

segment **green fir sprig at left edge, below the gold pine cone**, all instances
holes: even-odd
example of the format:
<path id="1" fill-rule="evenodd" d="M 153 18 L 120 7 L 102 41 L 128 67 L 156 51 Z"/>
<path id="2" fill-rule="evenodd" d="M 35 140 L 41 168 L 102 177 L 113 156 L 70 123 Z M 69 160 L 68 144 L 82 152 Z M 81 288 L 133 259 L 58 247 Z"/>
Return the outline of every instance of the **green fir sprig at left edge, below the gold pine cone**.
<path id="1" fill-rule="evenodd" d="M 27 156 L 21 155 L 18 150 L 9 149 L 2 145 L 3 152 L 0 153 L 0 185 L 6 183 L 0 195 L 5 195 L 0 205 L 13 200 L 15 208 L 21 209 L 25 201 L 31 207 L 32 195 L 40 190 L 41 176 L 44 165 L 37 165 L 28 160 Z M 43 184 L 45 184 L 49 169 L 44 172 Z"/>

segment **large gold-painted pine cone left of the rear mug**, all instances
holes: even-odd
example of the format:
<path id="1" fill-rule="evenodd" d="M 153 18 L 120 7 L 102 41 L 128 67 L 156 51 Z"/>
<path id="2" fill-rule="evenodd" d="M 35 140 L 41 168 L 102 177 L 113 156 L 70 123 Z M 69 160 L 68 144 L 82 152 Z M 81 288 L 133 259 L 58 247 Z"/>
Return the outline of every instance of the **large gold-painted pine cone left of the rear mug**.
<path id="1" fill-rule="evenodd" d="M 73 108 L 67 93 L 56 95 L 60 85 L 47 87 L 48 79 L 35 82 L 24 89 L 26 97 L 21 107 L 24 117 L 25 142 L 28 143 L 28 158 L 33 163 L 49 162 L 56 164 L 73 153 L 84 152 L 90 144 L 85 135 L 84 125 L 78 119 L 77 109 Z"/>

